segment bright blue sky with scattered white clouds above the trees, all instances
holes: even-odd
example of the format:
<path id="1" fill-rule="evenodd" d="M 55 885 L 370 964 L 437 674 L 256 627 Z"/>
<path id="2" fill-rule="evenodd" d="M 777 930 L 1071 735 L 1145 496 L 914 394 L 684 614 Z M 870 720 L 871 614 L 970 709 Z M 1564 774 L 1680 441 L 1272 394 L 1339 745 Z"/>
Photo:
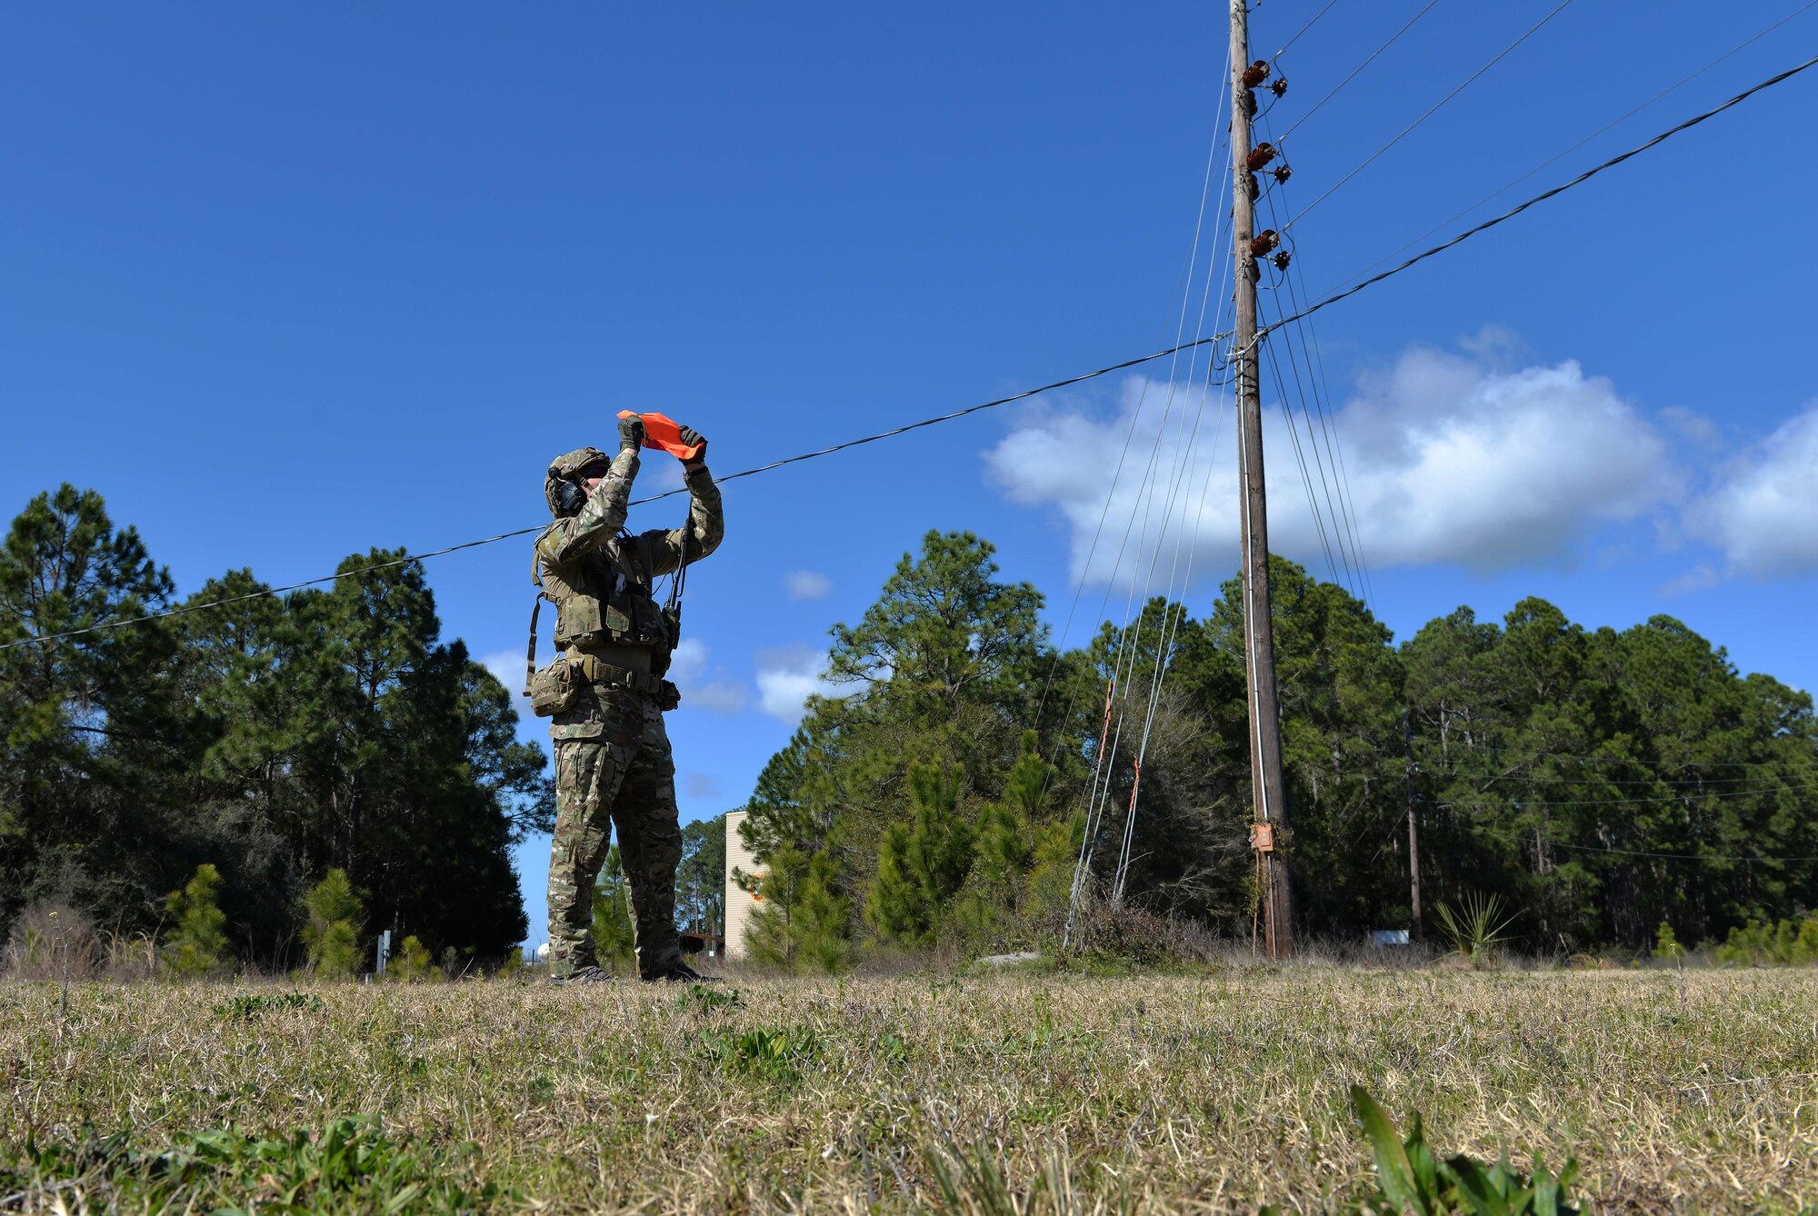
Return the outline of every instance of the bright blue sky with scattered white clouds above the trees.
<path id="1" fill-rule="evenodd" d="M 1256 53 L 1318 7 L 1258 5 Z M 1420 7 L 1333 5 L 1278 62 L 1273 129 Z M 1551 7 L 1442 0 L 1287 140 L 1291 198 Z M 1296 224 L 1307 289 L 1796 7 L 1576 0 Z M 1814 47 L 1803 11 L 1502 202 Z M 71 480 L 185 593 L 242 565 L 287 583 L 538 522 L 542 465 L 624 407 L 693 424 L 731 471 L 1154 349 L 1224 56 L 1205 4 L 11 5 L 0 505 Z M 1591 625 L 1671 613 L 1745 671 L 1818 683 L 1814 122 L 1818 73 L 1318 316 L 1398 636 L 1542 594 Z M 827 627 L 929 527 L 991 538 L 1058 627 L 1080 520 L 1138 505 L 1111 471 L 1138 400 L 1153 438 L 1167 367 L 1147 374 L 1149 396 L 1105 378 L 729 487 L 725 547 L 689 582 L 684 816 L 740 803 Z M 1324 569 L 1280 434 L 1276 547 Z M 1211 487 L 1200 605 L 1231 569 L 1229 460 L 1225 434 L 1185 469 Z M 653 454 L 644 482 L 674 469 Z M 445 633 L 507 674 L 525 569 L 522 542 L 429 563 Z M 520 856 L 533 942 L 545 863 L 542 842 Z"/>

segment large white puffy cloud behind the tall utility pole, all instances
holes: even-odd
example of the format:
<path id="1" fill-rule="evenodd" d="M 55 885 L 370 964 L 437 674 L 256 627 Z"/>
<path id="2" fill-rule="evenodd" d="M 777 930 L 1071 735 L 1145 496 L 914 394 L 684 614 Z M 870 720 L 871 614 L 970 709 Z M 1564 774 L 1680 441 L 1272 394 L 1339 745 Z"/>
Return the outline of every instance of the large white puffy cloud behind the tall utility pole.
<path id="1" fill-rule="evenodd" d="M 1476 345 L 1493 358 L 1511 347 L 1503 334 L 1491 338 Z M 1271 549 L 1325 574 L 1296 436 L 1276 398 L 1264 405 Z M 1318 442 L 1298 414 L 1294 427 L 1324 516 L 1324 431 L 1318 416 Z M 1482 356 L 1414 349 L 1336 409 L 1333 431 L 1344 471 L 1327 465 L 1325 482 L 1334 503 L 1338 485 L 1349 485 L 1349 527 L 1373 567 L 1558 560 L 1587 525 L 1643 516 L 1678 483 L 1658 429 L 1576 362 L 1500 371 Z M 1124 467 L 1109 485 L 1125 434 Z M 1082 409 L 1034 414 L 985 460 L 1011 500 L 1060 509 L 1076 578 L 1160 593 L 1176 560 L 1180 569 L 1191 560 L 1218 576 L 1236 563 L 1238 460 L 1224 389 L 1211 396 L 1182 389 L 1171 398 L 1167 384 L 1131 376 L 1114 418 L 1100 422 Z M 1334 542 L 1334 556 L 1336 549 Z"/>

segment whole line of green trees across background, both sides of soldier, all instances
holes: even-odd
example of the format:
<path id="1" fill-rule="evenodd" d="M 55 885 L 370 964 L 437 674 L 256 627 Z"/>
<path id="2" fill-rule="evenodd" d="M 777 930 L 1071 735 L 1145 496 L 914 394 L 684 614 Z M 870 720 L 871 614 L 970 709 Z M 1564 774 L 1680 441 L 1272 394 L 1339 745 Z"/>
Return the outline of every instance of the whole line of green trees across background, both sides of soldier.
<path id="1" fill-rule="evenodd" d="M 1462 607 L 1396 645 L 1345 589 L 1273 569 L 1302 932 L 1409 923 L 1411 814 L 1429 911 L 1496 896 L 1531 949 L 1643 949 L 1662 925 L 1722 940 L 1818 902 L 1809 694 L 1673 618 L 1585 629 L 1543 600 L 1502 622 Z M 747 807 L 760 958 L 1045 945 L 1076 903 L 1247 938 L 1236 582 L 1200 616 L 1154 600 L 1065 651 L 1042 607 L 989 542 L 929 533 L 833 629 L 838 694 L 809 702 Z M 551 827 L 544 753 L 440 638 L 404 551 L 353 554 L 322 589 L 275 596 L 242 569 L 180 600 L 98 494 L 38 494 L 0 551 L 0 932 L 71 907 L 115 934 L 191 925 L 191 954 L 275 969 L 329 929 L 469 963 L 525 938 L 509 849 Z M 684 931 L 722 923 L 722 823 L 685 829 Z"/>

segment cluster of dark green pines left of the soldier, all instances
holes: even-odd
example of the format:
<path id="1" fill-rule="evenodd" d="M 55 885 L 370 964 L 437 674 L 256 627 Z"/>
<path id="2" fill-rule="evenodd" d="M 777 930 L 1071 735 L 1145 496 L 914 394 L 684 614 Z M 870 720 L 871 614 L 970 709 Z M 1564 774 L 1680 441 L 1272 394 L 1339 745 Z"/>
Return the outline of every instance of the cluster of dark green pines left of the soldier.
<path id="1" fill-rule="evenodd" d="M 93 491 L 38 494 L 13 522 L 0 932 L 62 905 L 275 969 L 320 954 L 324 925 L 342 925 L 338 960 L 380 929 L 458 965 L 505 958 L 525 936 L 509 849 L 554 805 L 509 693 L 440 640 L 402 549 L 349 556 L 324 589 L 269 591 L 240 569 L 176 598 Z M 342 920 L 324 922 L 322 891 L 342 887 Z"/>

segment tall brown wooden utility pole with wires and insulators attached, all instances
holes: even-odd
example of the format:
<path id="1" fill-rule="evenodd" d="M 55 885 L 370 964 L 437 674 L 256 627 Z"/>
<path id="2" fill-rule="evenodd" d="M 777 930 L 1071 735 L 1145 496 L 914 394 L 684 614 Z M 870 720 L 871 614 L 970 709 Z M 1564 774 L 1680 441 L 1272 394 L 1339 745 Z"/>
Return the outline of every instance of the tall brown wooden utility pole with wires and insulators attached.
<path id="1" fill-rule="evenodd" d="M 1240 502 L 1244 514 L 1244 660 L 1251 714 L 1251 796 L 1260 852 L 1264 942 L 1269 958 L 1294 952 L 1287 889 L 1287 792 L 1282 783 L 1282 713 L 1274 685 L 1274 620 L 1269 611 L 1269 502 L 1262 471 L 1262 393 L 1256 384 L 1256 251 L 1247 0 L 1231 0 L 1231 227 L 1236 242 L 1236 329 L 1231 349 L 1238 394 Z M 1260 84 L 1260 80 L 1256 82 Z"/>

